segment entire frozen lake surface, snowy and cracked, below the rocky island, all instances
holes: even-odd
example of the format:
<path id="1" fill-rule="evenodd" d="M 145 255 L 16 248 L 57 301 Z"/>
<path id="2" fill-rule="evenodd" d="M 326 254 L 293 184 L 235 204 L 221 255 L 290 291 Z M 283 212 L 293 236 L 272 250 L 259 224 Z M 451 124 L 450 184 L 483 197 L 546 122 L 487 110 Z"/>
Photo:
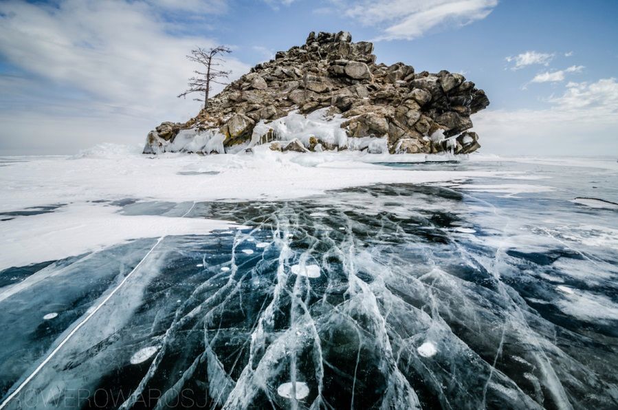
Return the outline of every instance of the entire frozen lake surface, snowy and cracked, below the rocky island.
<path id="1" fill-rule="evenodd" d="M 0 158 L 1 408 L 617 408 L 615 159 L 423 159 Z"/>

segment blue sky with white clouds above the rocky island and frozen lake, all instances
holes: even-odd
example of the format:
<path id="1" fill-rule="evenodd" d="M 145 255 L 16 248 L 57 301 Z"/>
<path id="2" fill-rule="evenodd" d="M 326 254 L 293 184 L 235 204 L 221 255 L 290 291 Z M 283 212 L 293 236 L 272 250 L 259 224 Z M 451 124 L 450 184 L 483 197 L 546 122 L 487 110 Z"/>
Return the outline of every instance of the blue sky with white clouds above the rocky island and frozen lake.
<path id="1" fill-rule="evenodd" d="M 618 156 L 616 16 L 607 0 L 0 0 L 0 155 L 141 144 L 199 111 L 176 98 L 192 48 L 228 45 L 233 79 L 346 30 L 377 62 L 485 89 L 483 153 Z"/>

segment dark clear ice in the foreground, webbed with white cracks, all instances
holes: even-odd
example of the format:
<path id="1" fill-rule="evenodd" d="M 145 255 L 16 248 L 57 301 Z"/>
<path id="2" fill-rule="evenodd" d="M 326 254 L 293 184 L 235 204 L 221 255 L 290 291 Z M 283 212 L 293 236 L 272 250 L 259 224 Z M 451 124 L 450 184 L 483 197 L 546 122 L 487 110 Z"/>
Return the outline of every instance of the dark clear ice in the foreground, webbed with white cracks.
<path id="1" fill-rule="evenodd" d="M 1 391 L 98 307 L 8 408 L 616 408 L 618 252 L 571 205 L 406 184 L 126 202 L 247 228 L 25 275 L 0 300 Z"/>

